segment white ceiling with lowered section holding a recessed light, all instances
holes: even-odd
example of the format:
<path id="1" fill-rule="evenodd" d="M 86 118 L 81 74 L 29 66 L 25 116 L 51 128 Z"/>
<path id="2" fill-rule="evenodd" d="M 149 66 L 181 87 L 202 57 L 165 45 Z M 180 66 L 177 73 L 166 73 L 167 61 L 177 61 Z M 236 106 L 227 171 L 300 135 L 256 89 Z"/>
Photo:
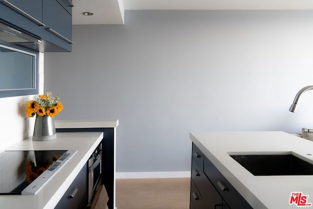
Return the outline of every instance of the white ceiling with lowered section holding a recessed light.
<path id="1" fill-rule="evenodd" d="M 312 10 L 313 0 L 72 0 L 73 24 L 123 24 L 124 10 Z M 84 16 L 83 12 L 92 12 Z"/>

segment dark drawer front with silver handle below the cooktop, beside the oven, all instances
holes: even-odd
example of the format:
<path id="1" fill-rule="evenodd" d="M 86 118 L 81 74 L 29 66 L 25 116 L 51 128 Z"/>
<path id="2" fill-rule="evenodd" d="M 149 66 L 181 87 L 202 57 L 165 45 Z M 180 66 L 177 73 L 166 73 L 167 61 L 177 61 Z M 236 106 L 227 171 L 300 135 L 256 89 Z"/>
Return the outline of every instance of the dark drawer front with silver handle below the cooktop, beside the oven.
<path id="1" fill-rule="evenodd" d="M 85 209 L 87 205 L 87 163 L 68 187 L 55 209 Z"/>

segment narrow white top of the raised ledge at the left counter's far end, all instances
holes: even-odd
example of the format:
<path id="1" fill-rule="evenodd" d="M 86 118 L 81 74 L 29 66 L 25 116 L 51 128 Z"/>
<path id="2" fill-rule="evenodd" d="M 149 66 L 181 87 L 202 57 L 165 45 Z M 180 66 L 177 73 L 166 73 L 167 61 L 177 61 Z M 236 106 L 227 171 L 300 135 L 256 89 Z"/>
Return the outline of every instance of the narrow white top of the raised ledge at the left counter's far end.
<path id="1" fill-rule="evenodd" d="M 55 128 L 116 128 L 118 119 L 113 120 L 55 120 Z"/>

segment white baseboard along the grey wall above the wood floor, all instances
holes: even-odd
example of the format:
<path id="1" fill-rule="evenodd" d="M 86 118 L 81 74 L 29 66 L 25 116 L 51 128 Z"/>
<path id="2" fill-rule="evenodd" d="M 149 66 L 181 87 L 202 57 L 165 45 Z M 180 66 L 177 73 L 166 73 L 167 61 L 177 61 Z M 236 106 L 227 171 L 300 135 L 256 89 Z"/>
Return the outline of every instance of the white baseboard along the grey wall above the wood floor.
<path id="1" fill-rule="evenodd" d="M 190 171 L 173 172 L 116 172 L 116 179 L 190 178 Z"/>

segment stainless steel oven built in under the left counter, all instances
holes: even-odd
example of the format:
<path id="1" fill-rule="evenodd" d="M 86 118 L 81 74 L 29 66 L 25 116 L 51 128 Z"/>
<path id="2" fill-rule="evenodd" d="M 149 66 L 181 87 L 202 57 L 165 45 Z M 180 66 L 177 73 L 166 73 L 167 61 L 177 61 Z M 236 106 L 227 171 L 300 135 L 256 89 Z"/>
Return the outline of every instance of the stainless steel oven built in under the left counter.
<path id="1" fill-rule="evenodd" d="M 101 158 L 102 144 L 100 143 L 88 160 L 88 206 L 92 202 L 92 197 L 101 185 Z"/>

